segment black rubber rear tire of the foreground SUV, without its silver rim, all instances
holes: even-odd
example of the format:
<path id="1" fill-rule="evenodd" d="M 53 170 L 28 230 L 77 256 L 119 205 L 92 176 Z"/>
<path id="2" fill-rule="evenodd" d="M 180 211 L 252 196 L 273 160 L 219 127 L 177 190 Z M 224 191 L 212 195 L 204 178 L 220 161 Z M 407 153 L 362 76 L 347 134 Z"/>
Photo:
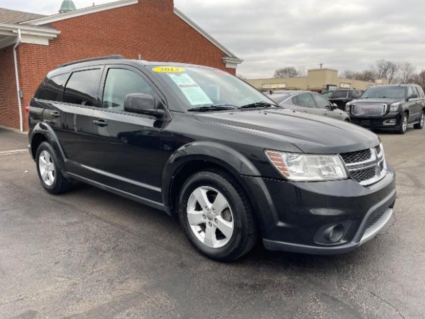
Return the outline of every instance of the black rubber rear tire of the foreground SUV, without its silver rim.
<path id="1" fill-rule="evenodd" d="M 49 185 L 43 180 L 42 174 L 40 173 L 40 160 L 41 160 L 40 155 L 43 152 L 47 152 L 50 155 L 51 163 L 53 163 L 54 165 L 54 171 L 52 172 L 54 179 L 51 185 Z M 71 184 L 69 183 L 67 179 L 65 179 L 65 177 L 62 176 L 60 168 L 59 168 L 59 161 L 57 159 L 57 154 L 54 151 L 53 147 L 48 142 L 42 142 L 40 144 L 40 146 L 37 148 L 37 153 L 35 158 L 37 163 L 38 177 L 40 179 L 40 183 L 42 187 L 46 191 L 48 191 L 50 194 L 60 194 L 69 189 Z"/>

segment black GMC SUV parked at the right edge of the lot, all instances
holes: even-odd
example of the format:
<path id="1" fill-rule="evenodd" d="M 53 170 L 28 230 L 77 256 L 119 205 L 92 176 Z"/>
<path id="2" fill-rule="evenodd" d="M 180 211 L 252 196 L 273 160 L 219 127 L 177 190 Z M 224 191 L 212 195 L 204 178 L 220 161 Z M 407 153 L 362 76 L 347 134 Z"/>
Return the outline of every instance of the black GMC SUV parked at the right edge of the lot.
<path id="1" fill-rule="evenodd" d="M 365 128 L 405 134 L 408 125 L 423 128 L 425 95 L 419 85 L 377 85 L 346 104 L 351 122 Z"/>

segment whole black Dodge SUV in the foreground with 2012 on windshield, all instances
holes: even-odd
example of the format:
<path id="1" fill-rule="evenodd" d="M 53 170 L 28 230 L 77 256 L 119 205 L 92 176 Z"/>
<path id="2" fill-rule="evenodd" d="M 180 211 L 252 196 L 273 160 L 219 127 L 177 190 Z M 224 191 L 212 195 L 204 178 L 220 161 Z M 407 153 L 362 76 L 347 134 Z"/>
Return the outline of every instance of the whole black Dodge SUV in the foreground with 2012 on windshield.
<path id="1" fill-rule="evenodd" d="M 374 133 L 283 110 L 224 71 L 104 58 L 51 71 L 29 141 L 51 194 L 75 179 L 178 216 L 202 253 L 342 253 L 388 222 L 394 171 Z"/>

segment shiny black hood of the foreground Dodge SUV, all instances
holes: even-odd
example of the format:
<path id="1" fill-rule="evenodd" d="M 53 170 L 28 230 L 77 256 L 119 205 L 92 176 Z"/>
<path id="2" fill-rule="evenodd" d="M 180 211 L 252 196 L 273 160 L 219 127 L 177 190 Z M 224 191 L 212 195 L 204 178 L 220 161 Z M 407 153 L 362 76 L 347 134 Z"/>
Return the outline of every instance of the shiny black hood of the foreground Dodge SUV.
<path id="1" fill-rule="evenodd" d="M 376 134 L 360 126 L 288 109 L 198 113 L 194 116 L 197 120 L 247 134 L 290 142 L 310 154 L 359 151 L 380 142 Z"/>

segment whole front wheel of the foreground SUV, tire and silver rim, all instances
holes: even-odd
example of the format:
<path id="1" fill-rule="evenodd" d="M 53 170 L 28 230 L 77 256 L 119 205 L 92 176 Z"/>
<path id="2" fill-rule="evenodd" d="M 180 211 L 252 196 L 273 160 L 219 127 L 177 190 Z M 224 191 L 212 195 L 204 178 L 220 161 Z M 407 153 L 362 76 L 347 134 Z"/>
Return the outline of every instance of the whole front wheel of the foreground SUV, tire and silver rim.
<path id="1" fill-rule="evenodd" d="M 189 177 L 178 209 L 190 242 L 211 259 L 232 261 L 255 245 L 257 231 L 248 198 L 224 171 L 211 169 Z"/>

